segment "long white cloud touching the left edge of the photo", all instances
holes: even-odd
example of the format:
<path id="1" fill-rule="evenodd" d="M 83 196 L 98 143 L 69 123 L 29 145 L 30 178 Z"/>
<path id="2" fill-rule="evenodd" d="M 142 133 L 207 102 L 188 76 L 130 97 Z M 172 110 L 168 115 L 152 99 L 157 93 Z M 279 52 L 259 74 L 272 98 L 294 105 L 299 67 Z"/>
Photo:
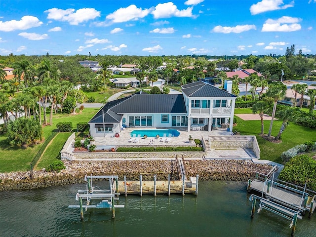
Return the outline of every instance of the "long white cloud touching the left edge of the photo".
<path id="1" fill-rule="evenodd" d="M 27 30 L 33 27 L 39 27 L 43 23 L 35 16 L 23 16 L 21 20 L 0 21 L 0 31 Z"/>

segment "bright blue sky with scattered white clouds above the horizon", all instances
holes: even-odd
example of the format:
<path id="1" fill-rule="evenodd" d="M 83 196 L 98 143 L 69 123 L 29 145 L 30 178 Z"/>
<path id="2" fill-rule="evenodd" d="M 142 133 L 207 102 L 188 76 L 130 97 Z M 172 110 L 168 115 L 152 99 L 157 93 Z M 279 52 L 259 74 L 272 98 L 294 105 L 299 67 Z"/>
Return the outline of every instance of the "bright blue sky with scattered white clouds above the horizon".
<path id="1" fill-rule="evenodd" d="M 316 54 L 316 0 L 1 0 L 0 55 Z"/>

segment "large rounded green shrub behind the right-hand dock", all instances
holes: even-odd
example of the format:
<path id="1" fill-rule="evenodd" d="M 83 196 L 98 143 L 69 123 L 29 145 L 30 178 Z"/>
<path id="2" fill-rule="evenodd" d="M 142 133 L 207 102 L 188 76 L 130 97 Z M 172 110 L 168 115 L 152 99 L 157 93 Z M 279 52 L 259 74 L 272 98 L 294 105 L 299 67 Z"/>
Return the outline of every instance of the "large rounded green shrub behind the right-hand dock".
<path id="1" fill-rule="evenodd" d="M 279 179 L 316 191 L 316 160 L 301 155 L 287 162 L 278 176 Z"/>

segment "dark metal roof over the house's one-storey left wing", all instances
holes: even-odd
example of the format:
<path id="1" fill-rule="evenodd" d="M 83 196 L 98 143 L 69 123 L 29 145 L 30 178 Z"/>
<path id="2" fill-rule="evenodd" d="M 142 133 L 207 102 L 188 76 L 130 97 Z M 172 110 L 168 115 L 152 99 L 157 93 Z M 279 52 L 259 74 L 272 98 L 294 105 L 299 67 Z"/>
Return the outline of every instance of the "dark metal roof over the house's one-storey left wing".
<path id="1" fill-rule="evenodd" d="M 89 123 L 119 122 L 123 114 L 186 114 L 182 94 L 133 94 L 108 102 Z"/>

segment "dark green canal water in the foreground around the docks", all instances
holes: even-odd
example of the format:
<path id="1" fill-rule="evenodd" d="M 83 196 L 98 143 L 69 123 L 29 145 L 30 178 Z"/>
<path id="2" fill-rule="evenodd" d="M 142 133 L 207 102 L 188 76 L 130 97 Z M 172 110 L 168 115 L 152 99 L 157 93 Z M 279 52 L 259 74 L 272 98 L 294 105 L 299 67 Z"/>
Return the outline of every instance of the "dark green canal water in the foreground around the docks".
<path id="1" fill-rule="evenodd" d="M 96 185 L 96 183 L 94 184 Z M 0 193 L 1 237 L 289 237 L 289 221 L 262 210 L 250 218 L 244 182 L 199 182 L 198 196 L 119 197 L 109 209 L 88 209 L 80 221 L 75 200 L 85 185 Z M 298 220 L 296 237 L 316 237 L 316 214 Z"/>

